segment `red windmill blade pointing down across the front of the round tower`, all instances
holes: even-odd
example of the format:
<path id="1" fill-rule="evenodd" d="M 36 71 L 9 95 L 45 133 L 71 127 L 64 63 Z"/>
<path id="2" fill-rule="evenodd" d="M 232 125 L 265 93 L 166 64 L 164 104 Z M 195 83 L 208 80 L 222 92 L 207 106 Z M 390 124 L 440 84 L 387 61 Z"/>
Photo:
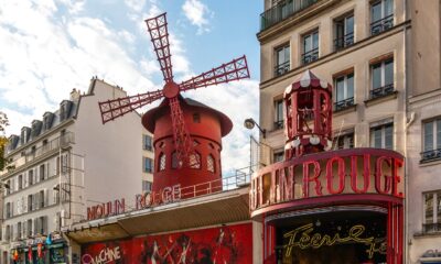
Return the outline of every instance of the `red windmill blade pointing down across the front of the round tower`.
<path id="1" fill-rule="evenodd" d="M 189 166 L 193 167 L 196 164 L 201 164 L 195 155 L 195 151 L 193 148 L 193 141 L 190 138 L 189 130 L 185 125 L 184 114 L 182 112 L 180 102 L 178 97 L 173 97 L 169 99 L 170 102 L 170 114 L 172 118 L 172 127 L 173 127 L 173 139 L 176 147 L 176 158 L 179 166 Z M 191 161 L 190 156 L 194 154 L 196 158 Z M 196 164 L 190 164 L 190 162 Z"/>

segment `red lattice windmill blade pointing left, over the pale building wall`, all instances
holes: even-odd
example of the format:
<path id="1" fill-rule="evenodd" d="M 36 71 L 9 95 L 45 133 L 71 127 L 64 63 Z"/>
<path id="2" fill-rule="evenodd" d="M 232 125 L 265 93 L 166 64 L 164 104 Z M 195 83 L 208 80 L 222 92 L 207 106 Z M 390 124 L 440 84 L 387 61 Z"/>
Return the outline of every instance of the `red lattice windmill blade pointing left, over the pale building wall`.
<path id="1" fill-rule="evenodd" d="M 104 102 L 99 102 L 99 110 L 101 111 L 103 123 L 111 121 L 118 117 L 122 117 L 128 112 L 133 111 L 140 107 L 151 103 L 163 97 L 162 90 L 149 91 L 146 94 L 117 98 Z"/>

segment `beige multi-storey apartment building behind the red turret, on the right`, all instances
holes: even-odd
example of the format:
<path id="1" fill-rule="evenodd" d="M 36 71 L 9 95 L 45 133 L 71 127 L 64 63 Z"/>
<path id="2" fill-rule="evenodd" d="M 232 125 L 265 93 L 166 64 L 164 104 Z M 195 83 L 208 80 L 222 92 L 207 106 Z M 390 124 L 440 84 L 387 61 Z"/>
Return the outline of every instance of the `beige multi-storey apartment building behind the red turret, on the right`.
<path id="1" fill-rule="evenodd" d="M 441 261 L 440 16 L 439 0 L 265 0 L 257 34 L 261 162 L 283 160 L 286 88 L 327 80 L 334 150 L 406 156 L 405 263 Z"/>

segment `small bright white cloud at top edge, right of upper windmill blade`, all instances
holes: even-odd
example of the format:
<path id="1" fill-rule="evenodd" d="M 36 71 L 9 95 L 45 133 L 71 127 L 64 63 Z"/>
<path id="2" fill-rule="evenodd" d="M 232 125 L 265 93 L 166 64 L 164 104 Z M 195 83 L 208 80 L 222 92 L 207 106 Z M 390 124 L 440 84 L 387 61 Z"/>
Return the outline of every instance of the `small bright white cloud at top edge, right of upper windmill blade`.
<path id="1" fill-rule="evenodd" d="M 185 18 L 187 18 L 193 25 L 197 26 L 197 34 L 209 32 L 209 23 L 206 16 L 213 16 L 213 12 L 207 6 L 200 0 L 185 0 L 182 10 L 184 11 Z"/>

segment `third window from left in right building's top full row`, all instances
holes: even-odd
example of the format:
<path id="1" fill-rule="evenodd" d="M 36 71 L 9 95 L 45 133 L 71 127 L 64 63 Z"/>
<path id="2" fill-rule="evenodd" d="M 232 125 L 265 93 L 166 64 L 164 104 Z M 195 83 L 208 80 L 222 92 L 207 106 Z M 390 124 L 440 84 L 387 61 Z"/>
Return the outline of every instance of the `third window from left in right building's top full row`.
<path id="1" fill-rule="evenodd" d="M 344 18 L 334 21 L 335 25 L 335 40 L 334 48 L 338 51 L 341 48 L 351 46 L 354 44 L 354 14 L 347 14 Z"/>

